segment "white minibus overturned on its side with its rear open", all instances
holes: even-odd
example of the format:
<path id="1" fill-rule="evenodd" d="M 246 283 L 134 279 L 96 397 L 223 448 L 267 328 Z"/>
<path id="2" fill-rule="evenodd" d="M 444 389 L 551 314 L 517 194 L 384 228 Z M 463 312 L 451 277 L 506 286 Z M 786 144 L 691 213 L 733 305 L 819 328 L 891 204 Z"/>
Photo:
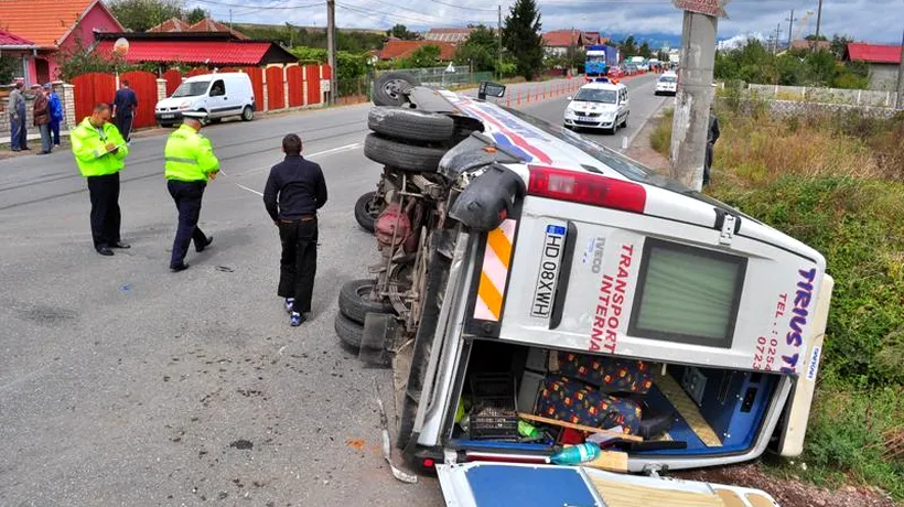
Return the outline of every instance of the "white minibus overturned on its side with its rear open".
<path id="1" fill-rule="evenodd" d="M 501 85 L 381 94 L 395 103 L 374 108 L 365 153 L 403 186 L 377 219 L 386 278 L 343 288 L 336 331 L 389 359 L 397 444 L 438 470 L 450 505 L 605 505 L 676 485 L 547 464 L 590 434 L 617 462 L 595 465 L 654 476 L 801 452 L 833 283 L 822 255 L 486 99 Z M 771 505 L 698 492 L 693 505 Z"/>

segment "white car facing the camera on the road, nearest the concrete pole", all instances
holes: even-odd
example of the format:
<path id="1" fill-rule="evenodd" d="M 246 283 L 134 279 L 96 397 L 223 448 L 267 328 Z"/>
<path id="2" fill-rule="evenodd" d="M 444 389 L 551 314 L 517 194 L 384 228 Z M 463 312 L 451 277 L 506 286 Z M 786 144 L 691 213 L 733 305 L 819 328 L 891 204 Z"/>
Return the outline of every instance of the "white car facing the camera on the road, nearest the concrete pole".
<path id="1" fill-rule="evenodd" d="M 627 127 L 631 106 L 628 105 L 627 87 L 621 83 L 612 83 L 607 78 L 600 78 L 588 83 L 574 95 L 569 97 L 566 106 L 563 123 L 567 129 L 606 129 L 612 134 L 618 127 Z"/>

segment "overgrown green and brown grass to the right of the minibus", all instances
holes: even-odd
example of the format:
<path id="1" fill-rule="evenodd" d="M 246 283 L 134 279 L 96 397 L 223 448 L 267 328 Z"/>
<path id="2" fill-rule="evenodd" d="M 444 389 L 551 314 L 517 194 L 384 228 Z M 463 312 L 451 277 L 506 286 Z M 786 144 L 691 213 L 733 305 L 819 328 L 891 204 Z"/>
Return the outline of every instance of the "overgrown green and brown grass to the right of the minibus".
<path id="1" fill-rule="evenodd" d="M 720 103 L 713 197 L 826 256 L 836 281 L 810 414 L 807 470 L 904 500 L 904 115 L 777 120 Z M 670 119 L 650 144 L 668 152 Z"/>

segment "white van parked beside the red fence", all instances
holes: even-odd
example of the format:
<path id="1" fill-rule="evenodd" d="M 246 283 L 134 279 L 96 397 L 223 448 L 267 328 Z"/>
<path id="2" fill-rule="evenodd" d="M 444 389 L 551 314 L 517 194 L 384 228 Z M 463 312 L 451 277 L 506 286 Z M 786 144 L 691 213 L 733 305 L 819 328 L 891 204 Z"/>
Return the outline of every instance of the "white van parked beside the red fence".
<path id="1" fill-rule="evenodd" d="M 154 118 L 161 127 L 182 121 L 183 111 L 204 111 L 213 121 L 233 116 L 251 121 L 255 108 L 255 91 L 247 74 L 204 74 L 185 79 L 171 97 L 157 103 Z"/>

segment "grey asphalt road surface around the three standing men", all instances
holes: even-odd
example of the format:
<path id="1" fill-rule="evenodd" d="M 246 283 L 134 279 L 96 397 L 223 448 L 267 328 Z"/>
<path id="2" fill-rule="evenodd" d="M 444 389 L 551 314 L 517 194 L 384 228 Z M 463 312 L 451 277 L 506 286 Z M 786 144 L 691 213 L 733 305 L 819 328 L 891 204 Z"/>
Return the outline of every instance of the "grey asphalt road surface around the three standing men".
<path id="1" fill-rule="evenodd" d="M 656 107 L 649 83 L 628 82 L 632 129 Z M 558 122 L 563 107 L 524 109 Z M 373 388 L 387 373 L 362 368 L 333 332 L 338 288 L 376 260 L 352 213 L 379 172 L 360 149 L 367 109 L 206 129 L 225 173 L 204 197 L 214 242 L 181 273 L 168 269 L 175 209 L 161 133 L 133 139 L 120 197 L 132 248 L 112 258 L 92 249 L 71 153 L 0 161 L 0 505 L 441 501 L 435 479 L 389 474 Z M 313 319 L 300 328 L 276 295 L 279 241 L 259 195 L 292 131 L 331 195 Z"/>

